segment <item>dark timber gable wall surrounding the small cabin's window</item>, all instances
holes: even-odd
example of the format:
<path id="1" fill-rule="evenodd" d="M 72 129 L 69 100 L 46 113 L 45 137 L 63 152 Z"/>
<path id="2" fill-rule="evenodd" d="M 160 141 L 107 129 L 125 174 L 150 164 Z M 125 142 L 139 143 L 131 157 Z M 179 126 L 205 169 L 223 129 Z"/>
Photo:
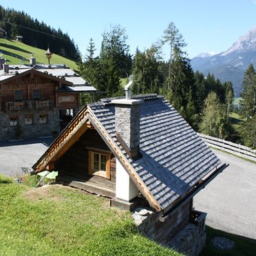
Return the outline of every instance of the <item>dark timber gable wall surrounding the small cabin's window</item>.
<path id="1" fill-rule="evenodd" d="M 79 140 L 67 150 L 67 152 L 56 162 L 56 169 L 59 172 L 58 180 L 61 175 L 68 175 L 79 180 L 100 183 L 111 188 L 116 184 L 116 158 L 111 153 L 110 180 L 96 175 L 89 175 L 89 156 L 88 148 L 95 150 L 109 151 L 103 139 L 95 129 L 88 129 Z"/>

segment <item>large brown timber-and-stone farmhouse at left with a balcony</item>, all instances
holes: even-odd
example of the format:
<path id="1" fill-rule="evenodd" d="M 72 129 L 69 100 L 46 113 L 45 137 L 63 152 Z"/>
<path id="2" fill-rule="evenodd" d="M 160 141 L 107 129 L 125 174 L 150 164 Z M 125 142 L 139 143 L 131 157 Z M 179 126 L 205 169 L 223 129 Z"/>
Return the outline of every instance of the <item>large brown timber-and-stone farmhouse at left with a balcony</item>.
<path id="1" fill-rule="evenodd" d="M 8 65 L 1 57 L 0 140 L 58 134 L 79 111 L 79 94 L 95 91 L 65 65 L 36 65 L 33 56 L 30 65 Z"/>

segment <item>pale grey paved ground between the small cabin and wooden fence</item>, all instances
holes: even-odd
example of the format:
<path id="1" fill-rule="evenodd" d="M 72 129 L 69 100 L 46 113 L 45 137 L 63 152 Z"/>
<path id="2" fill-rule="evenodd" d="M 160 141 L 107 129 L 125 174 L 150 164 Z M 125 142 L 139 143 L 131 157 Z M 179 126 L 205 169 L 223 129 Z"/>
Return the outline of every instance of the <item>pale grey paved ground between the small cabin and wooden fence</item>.
<path id="1" fill-rule="evenodd" d="M 213 228 L 256 239 L 256 164 L 214 152 L 229 167 L 195 195 L 195 209 Z"/>

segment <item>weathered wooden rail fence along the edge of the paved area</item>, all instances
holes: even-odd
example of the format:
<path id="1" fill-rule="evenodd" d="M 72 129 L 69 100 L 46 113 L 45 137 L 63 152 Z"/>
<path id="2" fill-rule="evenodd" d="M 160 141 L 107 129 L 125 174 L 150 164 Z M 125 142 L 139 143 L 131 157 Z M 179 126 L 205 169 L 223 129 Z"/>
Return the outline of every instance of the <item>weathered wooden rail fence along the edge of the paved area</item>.
<path id="1" fill-rule="evenodd" d="M 210 147 L 215 147 L 216 149 L 220 149 L 228 153 L 233 153 L 236 156 L 241 156 L 242 158 L 246 158 L 256 162 L 256 150 L 250 149 L 249 147 L 245 147 L 243 145 L 235 144 L 227 140 L 211 137 L 208 135 L 198 135 Z"/>

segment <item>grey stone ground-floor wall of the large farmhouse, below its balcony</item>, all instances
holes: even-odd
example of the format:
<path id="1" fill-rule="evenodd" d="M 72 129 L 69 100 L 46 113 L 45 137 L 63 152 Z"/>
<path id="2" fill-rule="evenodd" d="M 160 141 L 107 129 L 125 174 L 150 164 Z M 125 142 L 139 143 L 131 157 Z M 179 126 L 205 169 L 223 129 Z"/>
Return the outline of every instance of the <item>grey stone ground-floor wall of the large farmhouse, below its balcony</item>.
<path id="1" fill-rule="evenodd" d="M 47 114 L 47 123 L 39 123 L 39 115 Z M 19 119 L 19 125 L 10 126 L 10 116 Z M 25 125 L 25 116 L 33 116 L 32 125 Z M 0 140 L 38 138 L 39 136 L 56 135 L 60 131 L 58 109 L 36 112 L 15 112 L 6 114 L 0 111 Z"/>

